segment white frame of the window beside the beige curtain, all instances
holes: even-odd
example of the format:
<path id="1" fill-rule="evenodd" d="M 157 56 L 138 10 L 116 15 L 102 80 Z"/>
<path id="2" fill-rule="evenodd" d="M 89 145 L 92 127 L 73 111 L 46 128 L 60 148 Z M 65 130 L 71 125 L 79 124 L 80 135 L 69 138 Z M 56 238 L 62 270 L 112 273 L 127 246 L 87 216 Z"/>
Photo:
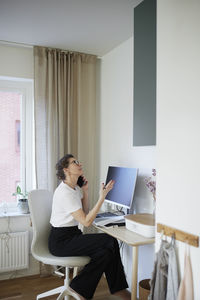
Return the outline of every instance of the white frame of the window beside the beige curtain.
<path id="1" fill-rule="evenodd" d="M 36 186 L 34 159 L 35 151 L 33 79 L 0 76 L 0 89 L 5 92 L 19 92 L 20 94 L 22 94 L 20 105 L 20 181 L 22 191 L 29 192 Z M 3 202 L 6 202 L 6 199 Z"/>

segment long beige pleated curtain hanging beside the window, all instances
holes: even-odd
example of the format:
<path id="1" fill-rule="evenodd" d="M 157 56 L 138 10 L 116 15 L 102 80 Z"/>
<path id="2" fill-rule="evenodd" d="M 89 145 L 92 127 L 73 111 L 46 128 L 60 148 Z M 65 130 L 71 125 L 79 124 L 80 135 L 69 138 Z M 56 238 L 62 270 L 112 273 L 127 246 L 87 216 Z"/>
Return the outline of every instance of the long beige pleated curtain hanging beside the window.
<path id="1" fill-rule="evenodd" d="M 90 203 L 95 186 L 96 56 L 34 47 L 37 188 L 53 191 L 66 153 L 83 163 Z"/>

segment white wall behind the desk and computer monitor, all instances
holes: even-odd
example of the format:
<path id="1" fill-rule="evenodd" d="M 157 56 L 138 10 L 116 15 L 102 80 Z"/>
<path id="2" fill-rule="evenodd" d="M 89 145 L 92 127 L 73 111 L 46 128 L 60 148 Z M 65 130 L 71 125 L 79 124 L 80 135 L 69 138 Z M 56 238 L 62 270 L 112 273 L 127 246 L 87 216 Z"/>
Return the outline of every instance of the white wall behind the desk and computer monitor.
<path id="1" fill-rule="evenodd" d="M 105 181 L 109 165 L 139 168 L 135 194 L 137 212 L 151 212 L 151 194 L 144 176 L 155 168 L 155 147 L 133 147 L 133 38 L 103 56 L 100 63 L 99 177 Z M 124 248 L 124 265 L 131 281 L 131 249 Z M 139 248 L 139 280 L 149 278 L 153 245 Z"/>

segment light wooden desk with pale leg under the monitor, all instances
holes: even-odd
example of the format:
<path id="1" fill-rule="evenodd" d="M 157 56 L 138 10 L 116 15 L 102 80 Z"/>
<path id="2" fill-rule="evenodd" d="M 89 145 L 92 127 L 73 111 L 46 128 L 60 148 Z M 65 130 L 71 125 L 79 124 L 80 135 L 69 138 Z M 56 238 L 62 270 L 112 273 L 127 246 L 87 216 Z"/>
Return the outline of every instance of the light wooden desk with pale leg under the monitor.
<path id="1" fill-rule="evenodd" d="M 153 244 L 155 242 L 154 238 L 146 238 L 142 235 L 134 233 L 125 226 L 120 227 L 98 227 L 95 226 L 100 231 L 103 231 L 116 239 L 132 246 L 132 286 L 131 286 L 131 300 L 137 300 L 137 275 L 138 275 L 138 246 Z"/>

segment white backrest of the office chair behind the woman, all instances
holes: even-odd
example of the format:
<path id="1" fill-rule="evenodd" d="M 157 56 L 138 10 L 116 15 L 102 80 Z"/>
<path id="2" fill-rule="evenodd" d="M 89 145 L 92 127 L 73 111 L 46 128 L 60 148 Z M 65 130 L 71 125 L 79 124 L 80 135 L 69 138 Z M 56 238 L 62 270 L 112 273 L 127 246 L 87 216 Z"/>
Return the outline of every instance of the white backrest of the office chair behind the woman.
<path id="1" fill-rule="evenodd" d="M 52 200 L 53 194 L 47 190 L 33 190 L 28 196 L 33 226 L 31 252 L 36 259 L 48 251 Z"/>

